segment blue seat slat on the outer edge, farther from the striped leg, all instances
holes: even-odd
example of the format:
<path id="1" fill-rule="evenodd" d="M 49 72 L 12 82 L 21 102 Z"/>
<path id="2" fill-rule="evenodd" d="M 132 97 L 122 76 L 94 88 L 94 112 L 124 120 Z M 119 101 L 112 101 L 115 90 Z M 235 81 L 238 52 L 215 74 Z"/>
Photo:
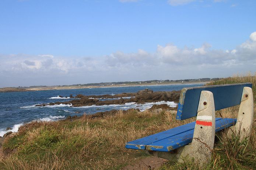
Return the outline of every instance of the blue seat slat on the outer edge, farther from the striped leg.
<path id="1" fill-rule="evenodd" d="M 218 121 L 220 119 L 221 118 L 216 118 L 215 121 Z M 146 145 L 150 145 L 150 144 L 160 141 L 162 139 L 169 138 L 174 135 L 178 135 L 178 134 L 184 133 L 186 131 L 193 130 L 195 127 L 195 124 L 196 124 L 196 122 L 188 123 L 188 124 L 181 125 L 179 127 L 175 127 L 175 128 L 163 131 L 163 132 L 159 132 L 154 135 L 136 139 L 134 141 L 127 142 L 125 147 L 127 149 L 142 149 L 142 150 L 144 150 L 144 149 L 146 149 Z"/>

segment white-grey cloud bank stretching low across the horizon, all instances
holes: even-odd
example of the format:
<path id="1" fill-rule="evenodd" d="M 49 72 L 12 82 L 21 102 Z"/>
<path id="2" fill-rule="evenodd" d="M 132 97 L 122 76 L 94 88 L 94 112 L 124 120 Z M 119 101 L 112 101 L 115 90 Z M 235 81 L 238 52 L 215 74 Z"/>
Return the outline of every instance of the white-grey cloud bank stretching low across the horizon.
<path id="1" fill-rule="evenodd" d="M 229 50 L 204 43 L 196 48 L 158 45 L 154 53 L 138 49 L 99 57 L 0 54 L 1 87 L 213 78 L 248 71 L 256 71 L 256 32 Z"/>

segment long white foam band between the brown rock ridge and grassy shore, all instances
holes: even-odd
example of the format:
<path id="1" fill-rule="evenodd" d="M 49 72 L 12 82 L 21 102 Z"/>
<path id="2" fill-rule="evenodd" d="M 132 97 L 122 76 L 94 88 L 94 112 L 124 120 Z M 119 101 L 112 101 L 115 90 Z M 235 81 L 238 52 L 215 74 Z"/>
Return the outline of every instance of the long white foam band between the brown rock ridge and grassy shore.
<path id="1" fill-rule="evenodd" d="M 130 103 L 125 103 L 125 105 L 104 105 L 104 106 L 96 106 L 96 105 L 91 105 L 91 106 L 81 106 L 79 108 L 113 108 L 113 109 L 122 109 L 122 110 L 127 110 L 127 109 L 140 109 L 140 111 L 144 111 L 146 109 L 151 108 L 153 105 L 162 105 L 166 104 L 169 107 L 176 107 L 177 103 L 175 102 L 165 102 L 165 101 L 160 101 L 160 102 L 148 102 L 144 104 L 136 104 L 136 102 L 130 102 Z"/>

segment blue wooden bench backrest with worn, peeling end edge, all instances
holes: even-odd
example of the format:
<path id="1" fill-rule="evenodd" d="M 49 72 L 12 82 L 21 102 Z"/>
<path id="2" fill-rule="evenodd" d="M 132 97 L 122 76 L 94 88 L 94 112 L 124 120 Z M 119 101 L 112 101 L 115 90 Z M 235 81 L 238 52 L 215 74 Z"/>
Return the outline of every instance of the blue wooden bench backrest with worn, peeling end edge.
<path id="1" fill-rule="evenodd" d="M 252 88 L 252 84 L 242 83 L 183 88 L 180 93 L 176 119 L 184 120 L 197 116 L 201 91 L 210 91 L 213 93 L 215 110 L 240 105 L 243 87 Z"/>

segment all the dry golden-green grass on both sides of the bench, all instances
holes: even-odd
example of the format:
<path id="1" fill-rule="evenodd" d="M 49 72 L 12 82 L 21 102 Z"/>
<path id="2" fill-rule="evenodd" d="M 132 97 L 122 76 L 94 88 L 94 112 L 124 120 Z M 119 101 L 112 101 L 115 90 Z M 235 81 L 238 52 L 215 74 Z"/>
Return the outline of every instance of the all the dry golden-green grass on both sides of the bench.
<path id="1" fill-rule="evenodd" d="M 252 82 L 256 94 L 255 76 L 233 77 L 209 85 Z M 235 118 L 239 106 L 216 111 L 216 117 Z M 74 121 L 33 122 L 22 126 L 19 133 L 4 143 L 0 153 L 0 169 L 121 169 L 134 158 L 148 156 L 143 151 L 125 149 L 125 143 L 150 134 L 194 121 L 175 119 L 171 111 L 154 114 L 151 111 L 118 111 L 105 118 L 83 116 Z M 254 106 L 256 117 L 256 104 Z M 200 167 L 193 162 L 162 165 L 169 169 L 256 169 L 256 123 L 252 135 L 239 142 L 235 135 L 214 146 L 212 160 Z"/>

